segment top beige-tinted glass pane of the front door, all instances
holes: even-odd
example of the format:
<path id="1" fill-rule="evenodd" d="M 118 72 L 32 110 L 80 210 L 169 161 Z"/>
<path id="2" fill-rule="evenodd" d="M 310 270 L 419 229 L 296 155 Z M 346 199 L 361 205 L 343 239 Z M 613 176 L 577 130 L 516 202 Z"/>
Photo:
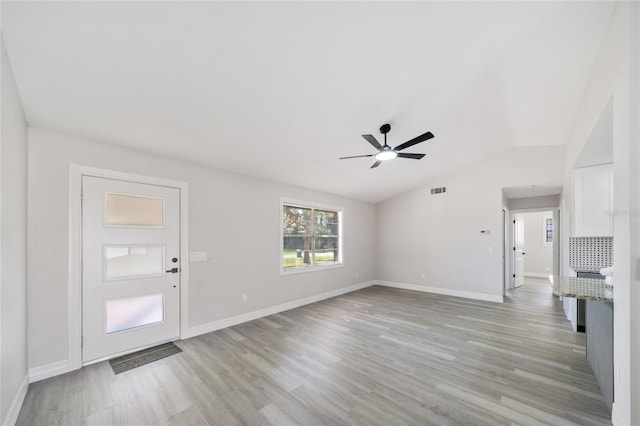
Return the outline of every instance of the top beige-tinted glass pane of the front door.
<path id="1" fill-rule="evenodd" d="M 107 192 L 105 223 L 116 226 L 164 226 L 164 199 Z"/>

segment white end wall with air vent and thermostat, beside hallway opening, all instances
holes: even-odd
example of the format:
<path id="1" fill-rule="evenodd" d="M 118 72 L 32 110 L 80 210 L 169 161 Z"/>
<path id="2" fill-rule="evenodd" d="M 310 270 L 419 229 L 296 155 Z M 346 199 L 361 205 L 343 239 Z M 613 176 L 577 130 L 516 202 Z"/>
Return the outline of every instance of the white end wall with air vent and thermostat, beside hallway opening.
<path id="1" fill-rule="evenodd" d="M 378 278 L 414 289 L 502 300 L 502 188 L 560 186 L 564 150 L 513 148 L 378 204 Z M 447 192 L 429 193 L 439 186 Z M 482 229 L 490 233 L 481 235 Z"/>

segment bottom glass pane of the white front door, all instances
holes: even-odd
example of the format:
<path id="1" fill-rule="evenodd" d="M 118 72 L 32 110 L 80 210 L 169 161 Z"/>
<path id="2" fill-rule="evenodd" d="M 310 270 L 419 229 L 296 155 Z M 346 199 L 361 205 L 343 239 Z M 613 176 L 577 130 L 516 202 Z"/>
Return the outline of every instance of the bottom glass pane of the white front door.
<path id="1" fill-rule="evenodd" d="M 107 334 L 156 324 L 164 321 L 164 296 L 151 294 L 107 300 L 105 311 Z"/>

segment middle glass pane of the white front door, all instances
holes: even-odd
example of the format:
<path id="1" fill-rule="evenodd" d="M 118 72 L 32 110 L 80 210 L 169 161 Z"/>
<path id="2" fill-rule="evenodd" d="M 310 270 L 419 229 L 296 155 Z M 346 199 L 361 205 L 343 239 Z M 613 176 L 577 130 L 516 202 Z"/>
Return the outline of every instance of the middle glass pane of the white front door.
<path id="1" fill-rule="evenodd" d="M 164 272 L 164 246 L 104 246 L 105 279 L 145 277 Z"/>

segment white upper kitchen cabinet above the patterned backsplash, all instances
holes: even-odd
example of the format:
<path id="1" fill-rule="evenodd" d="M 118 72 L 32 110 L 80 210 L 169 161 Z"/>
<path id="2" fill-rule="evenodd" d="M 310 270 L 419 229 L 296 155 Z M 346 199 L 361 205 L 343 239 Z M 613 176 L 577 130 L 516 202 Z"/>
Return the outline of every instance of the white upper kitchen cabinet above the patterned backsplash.
<path id="1" fill-rule="evenodd" d="M 574 236 L 613 236 L 613 165 L 573 170 Z"/>

